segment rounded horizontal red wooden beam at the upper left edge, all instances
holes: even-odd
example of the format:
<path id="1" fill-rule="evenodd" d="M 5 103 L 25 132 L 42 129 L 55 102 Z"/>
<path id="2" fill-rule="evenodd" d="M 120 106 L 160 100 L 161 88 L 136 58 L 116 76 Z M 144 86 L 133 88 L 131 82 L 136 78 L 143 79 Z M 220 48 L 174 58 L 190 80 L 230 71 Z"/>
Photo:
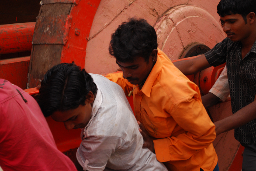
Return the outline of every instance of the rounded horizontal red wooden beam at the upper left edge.
<path id="1" fill-rule="evenodd" d="M 0 25 L 0 54 L 31 51 L 35 22 Z"/>

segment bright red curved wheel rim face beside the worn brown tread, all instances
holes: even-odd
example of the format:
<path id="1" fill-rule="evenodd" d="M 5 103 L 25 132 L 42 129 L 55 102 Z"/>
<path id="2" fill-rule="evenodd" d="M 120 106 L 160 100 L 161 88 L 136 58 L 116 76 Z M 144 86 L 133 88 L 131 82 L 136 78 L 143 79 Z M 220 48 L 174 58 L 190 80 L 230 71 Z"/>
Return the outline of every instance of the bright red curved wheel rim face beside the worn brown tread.
<path id="1" fill-rule="evenodd" d="M 76 65 L 84 68 L 88 37 L 99 3 L 100 0 L 84 0 L 72 6 L 72 22 L 67 44 L 61 52 L 61 63 L 74 61 Z"/>

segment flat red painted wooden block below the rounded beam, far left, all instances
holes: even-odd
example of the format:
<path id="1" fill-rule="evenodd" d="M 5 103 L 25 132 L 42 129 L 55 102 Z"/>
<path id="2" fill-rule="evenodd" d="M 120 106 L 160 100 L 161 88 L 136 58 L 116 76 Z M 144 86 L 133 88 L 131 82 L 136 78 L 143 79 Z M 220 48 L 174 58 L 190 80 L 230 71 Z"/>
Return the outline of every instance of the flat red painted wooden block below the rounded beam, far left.
<path id="1" fill-rule="evenodd" d="M 30 56 L 0 60 L 0 78 L 25 89 L 29 60 Z"/>

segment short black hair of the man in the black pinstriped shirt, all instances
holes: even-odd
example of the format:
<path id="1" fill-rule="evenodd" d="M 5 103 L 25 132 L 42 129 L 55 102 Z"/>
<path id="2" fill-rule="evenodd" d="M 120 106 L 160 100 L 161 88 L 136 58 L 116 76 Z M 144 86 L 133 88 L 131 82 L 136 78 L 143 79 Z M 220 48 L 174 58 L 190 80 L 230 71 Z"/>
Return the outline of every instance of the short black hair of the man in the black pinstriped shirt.
<path id="1" fill-rule="evenodd" d="M 246 16 L 254 12 L 256 14 L 255 0 L 221 0 L 217 5 L 217 13 L 224 17 L 231 14 L 240 14 L 247 24 Z"/>

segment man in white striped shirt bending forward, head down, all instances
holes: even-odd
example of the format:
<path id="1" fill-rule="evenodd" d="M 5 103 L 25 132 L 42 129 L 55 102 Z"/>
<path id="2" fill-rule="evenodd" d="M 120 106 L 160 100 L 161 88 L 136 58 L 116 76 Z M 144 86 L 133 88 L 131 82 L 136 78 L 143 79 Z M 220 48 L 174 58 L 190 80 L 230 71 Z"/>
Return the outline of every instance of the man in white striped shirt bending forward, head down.
<path id="1" fill-rule="evenodd" d="M 44 116 L 81 131 L 78 170 L 167 171 L 147 148 L 120 86 L 74 64 L 54 66 L 38 98 Z"/>

